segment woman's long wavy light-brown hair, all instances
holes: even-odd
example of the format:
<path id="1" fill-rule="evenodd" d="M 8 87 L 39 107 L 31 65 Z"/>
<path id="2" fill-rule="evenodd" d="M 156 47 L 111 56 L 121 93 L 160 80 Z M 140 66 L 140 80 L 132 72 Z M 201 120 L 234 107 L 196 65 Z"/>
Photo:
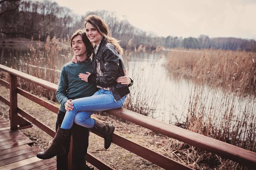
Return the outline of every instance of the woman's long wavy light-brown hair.
<path id="1" fill-rule="evenodd" d="M 119 44 L 120 40 L 116 40 L 116 38 L 112 37 L 111 33 L 109 32 L 108 24 L 105 23 L 101 17 L 97 15 L 88 15 L 86 18 L 84 18 L 84 28 L 87 23 L 92 24 L 92 26 L 94 26 L 97 31 L 106 38 L 108 43 L 113 44 L 120 55 L 123 54 L 123 49 Z"/>

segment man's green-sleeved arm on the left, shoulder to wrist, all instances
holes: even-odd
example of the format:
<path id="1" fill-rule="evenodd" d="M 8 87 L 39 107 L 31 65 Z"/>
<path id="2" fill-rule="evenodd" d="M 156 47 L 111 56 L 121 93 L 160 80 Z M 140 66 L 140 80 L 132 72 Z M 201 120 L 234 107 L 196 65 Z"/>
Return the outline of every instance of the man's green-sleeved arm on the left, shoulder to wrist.
<path id="1" fill-rule="evenodd" d="M 55 94 L 58 102 L 64 108 L 67 101 L 69 101 L 69 98 L 67 98 L 67 88 L 68 88 L 67 73 L 63 67 L 61 69 L 60 83 L 58 84 L 58 89 Z"/>

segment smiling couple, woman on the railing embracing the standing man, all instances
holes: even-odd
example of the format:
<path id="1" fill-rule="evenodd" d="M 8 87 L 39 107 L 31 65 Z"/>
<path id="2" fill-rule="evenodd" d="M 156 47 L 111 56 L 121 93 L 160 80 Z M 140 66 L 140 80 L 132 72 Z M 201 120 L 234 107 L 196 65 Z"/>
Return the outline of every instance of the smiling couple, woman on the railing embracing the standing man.
<path id="1" fill-rule="evenodd" d="M 72 35 L 73 62 L 65 64 L 61 70 L 56 91 L 61 104 L 56 135 L 51 146 L 37 154 L 41 159 L 57 156 L 59 170 L 67 169 L 70 132 L 73 135 L 76 170 L 85 169 L 90 129 L 103 135 L 105 149 L 110 147 L 115 126 L 96 121 L 90 115 L 95 111 L 122 107 L 130 92 L 128 87 L 133 83 L 125 73 L 121 56 L 123 49 L 119 41 L 111 37 L 105 21 L 96 15 L 89 15 L 85 18 L 84 28 L 85 31 L 77 30 Z M 96 92 L 95 86 L 99 89 Z"/>

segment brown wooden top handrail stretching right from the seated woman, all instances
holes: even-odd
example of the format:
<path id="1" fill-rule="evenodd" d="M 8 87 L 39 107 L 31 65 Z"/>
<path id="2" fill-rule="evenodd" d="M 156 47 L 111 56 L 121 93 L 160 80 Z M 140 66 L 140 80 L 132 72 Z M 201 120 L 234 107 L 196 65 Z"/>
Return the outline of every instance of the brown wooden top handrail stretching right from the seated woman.
<path id="1" fill-rule="evenodd" d="M 124 108 L 108 110 L 106 112 L 153 130 L 154 132 L 161 133 L 170 138 L 175 138 L 192 146 L 223 156 L 223 158 L 228 158 L 251 167 L 256 166 L 255 152 L 140 115 Z"/>

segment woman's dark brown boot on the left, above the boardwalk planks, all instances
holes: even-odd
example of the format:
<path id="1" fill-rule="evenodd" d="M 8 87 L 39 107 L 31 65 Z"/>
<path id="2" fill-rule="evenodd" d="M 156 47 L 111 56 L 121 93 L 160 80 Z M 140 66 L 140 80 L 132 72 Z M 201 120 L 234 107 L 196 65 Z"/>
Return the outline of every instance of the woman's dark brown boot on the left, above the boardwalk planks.
<path id="1" fill-rule="evenodd" d="M 47 150 L 38 153 L 36 156 L 40 159 L 49 159 L 53 156 L 63 155 L 66 152 L 63 144 L 69 133 L 69 129 L 61 129 L 61 125 L 59 125 L 51 146 Z"/>

